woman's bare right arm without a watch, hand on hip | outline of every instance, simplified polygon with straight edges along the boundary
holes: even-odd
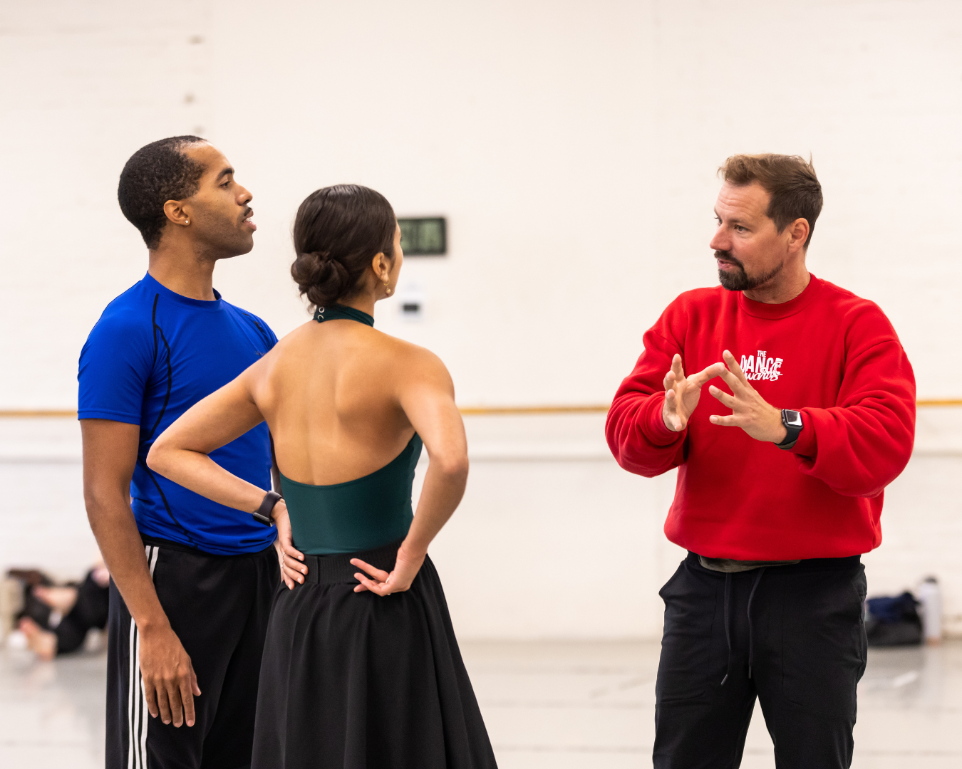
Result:
[[[351,563],[374,579],[358,573],[357,592],[370,590],[381,596],[407,590],[418,575],[431,540],[442,530],[461,503],[468,484],[468,439],[461,412],[454,402],[454,385],[441,360],[418,351],[405,366],[399,401],[424,441],[429,464],[418,501],[418,512],[397,551],[393,571],[376,569],[360,558]]]

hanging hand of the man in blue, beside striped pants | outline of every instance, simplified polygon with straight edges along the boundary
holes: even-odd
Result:
[[[200,696],[200,687],[190,657],[169,625],[140,631],[140,675],[154,718],[160,714],[165,724],[193,726],[193,698]]]

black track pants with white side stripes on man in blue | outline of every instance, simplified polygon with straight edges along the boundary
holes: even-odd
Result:
[[[280,582],[275,551],[213,556],[154,539],[145,547],[157,596],[190,655],[201,695],[193,700],[192,727],[150,716],[138,629],[112,580],[107,769],[248,767],[267,617]]]

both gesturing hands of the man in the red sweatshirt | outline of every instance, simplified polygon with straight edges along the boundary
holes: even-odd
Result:
[[[708,418],[709,421],[721,427],[740,427],[755,440],[780,443],[787,434],[781,421],[781,410],[766,403],[758,390],[748,382],[742,367],[728,350],[722,353],[722,360],[724,362],[712,363],[686,378],[681,356],[674,356],[671,371],[665,375],[665,406],[662,409],[665,425],[676,433],[684,430],[698,405],[701,387],[710,379],[722,377],[725,385],[731,387],[731,394],[715,385],[710,385],[708,391],[723,406],[731,409],[731,414],[713,414]]]

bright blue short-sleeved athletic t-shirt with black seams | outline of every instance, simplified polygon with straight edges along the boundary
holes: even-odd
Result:
[[[80,354],[80,419],[140,426],[137,467],[130,484],[140,533],[216,555],[254,553],[276,531],[241,510],[195,494],[147,467],[158,435],[201,398],[237,377],[274,346],[260,318],[216,299],[174,293],[144,276],[111,302]],[[266,423],[211,453],[224,469],[270,488]]]

